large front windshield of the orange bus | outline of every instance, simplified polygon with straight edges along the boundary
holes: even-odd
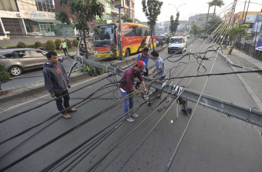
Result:
[[[101,32],[95,32],[94,47],[109,47],[112,43],[116,43],[115,25],[96,26],[96,28],[101,29]]]

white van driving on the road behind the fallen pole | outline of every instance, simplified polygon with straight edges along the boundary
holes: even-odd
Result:
[[[180,53],[182,54],[183,51],[186,51],[187,45],[187,38],[186,36],[173,36],[170,39],[169,46],[167,47],[167,52],[175,52],[181,49]]]

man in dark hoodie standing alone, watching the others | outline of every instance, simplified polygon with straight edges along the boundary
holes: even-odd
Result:
[[[77,111],[77,109],[67,109],[70,107],[70,96],[68,94],[67,87],[70,88],[71,85],[69,83],[66,70],[64,66],[60,62],[58,62],[56,52],[49,51],[47,53],[47,58],[49,62],[44,64],[43,69],[45,86],[51,97],[55,98],[57,109],[62,113],[62,116],[66,119],[70,119],[71,116],[67,112],[74,112]],[[62,96],[64,97],[64,106]]]

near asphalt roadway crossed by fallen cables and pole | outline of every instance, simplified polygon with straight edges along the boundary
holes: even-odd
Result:
[[[192,39],[189,39],[189,41],[192,41]],[[192,52],[200,43],[201,42],[197,41],[192,45],[192,47],[190,45],[187,48],[187,52]],[[207,47],[208,45],[204,45],[203,49],[199,48],[197,49],[197,52],[204,52]],[[169,55],[170,54],[167,54],[167,52],[164,51],[160,54],[160,57],[165,59]],[[174,56],[175,57],[170,60],[177,60],[180,58],[178,57],[180,54],[176,54]],[[210,57],[215,57],[215,54],[212,53]],[[190,60],[192,60],[192,62],[196,62],[196,59],[192,56],[190,57]],[[210,72],[214,60],[214,58],[211,58],[210,61],[206,61],[204,64],[207,69],[206,73]],[[164,62],[166,70],[171,69],[178,64],[171,63],[166,60]],[[185,62],[188,62],[188,59]],[[152,64],[153,61],[149,61],[149,65]],[[188,63],[188,65],[183,64],[181,68],[177,68],[177,72],[173,75],[173,77],[195,74],[197,67],[197,63]],[[174,69],[172,71],[174,71]],[[204,70],[201,70],[200,72],[203,73]],[[212,73],[222,72],[232,72],[232,70],[222,59],[216,59]],[[95,80],[91,79],[90,81],[74,85],[69,92],[79,89],[91,82],[95,82],[99,78],[103,78],[105,76],[106,74],[96,78]],[[169,75],[167,75],[167,77],[169,77]],[[194,78],[189,84],[188,89],[201,92],[206,79],[207,77]],[[176,79],[173,84],[182,86],[186,84],[187,80],[187,78]],[[109,81],[104,79],[94,85],[77,91],[76,93],[70,94],[70,104],[73,105],[81,101],[82,99],[76,98],[86,97],[108,83]],[[103,99],[92,100],[88,103],[81,104],[81,106],[77,106],[78,111],[70,113],[72,115],[70,120],[60,118],[61,116],[58,115],[50,121],[32,129],[16,139],[0,145],[0,156],[2,156],[17,144],[32,136],[35,132],[44,128],[29,141],[23,143],[4,158],[1,158],[0,167],[4,167],[16,159],[28,154],[51,139],[58,137],[60,134],[64,133],[73,126],[79,125],[84,120],[98,113],[100,110],[115,103],[118,99],[114,98],[114,96],[117,97],[120,95],[117,95],[116,93],[107,93],[108,91],[109,90],[107,89],[96,94],[96,96],[101,95]],[[246,107],[256,107],[254,101],[251,99],[250,95],[246,92],[246,89],[235,75],[210,77],[204,94],[210,94]],[[162,98],[164,98],[165,95],[166,94],[163,94]],[[51,97],[49,95],[44,95],[43,97],[39,97],[33,101],[25,102],[18,107],[1,112],[0,120],[17,114],[18,112],[31,109],[46,102],[47,100],[51,100]],[[152,107],[145,106],[139,109],[136,112],[139,117],[134,118],[134,122],[130,123],[125,121],[90,154],[87,155],[88,152],[85,152],[80,157],[85,155],[86,157],[84,157],[71,172],[87,171],[98,159],[106,154],[107,151],[113,148],[119,140],[121,140],[143,119],[145,119],[152,109],[156,108],[160,101],[160,99],[157,99],[154,101]],[[142,102],[143,100],[141,97],[135,98],[134,107]],[[167,104],[168,103],[165,103],[164,105]],[[194,108],[196,104],[188,102],[188,106]],[[168,161],[172,156],[177,143],[180,140],[181,134],[189,120],[189,116],[183,114],[180,109],[181,108],[179,107],[178,119],[176,119],[176,106],[167,112],[160,123],[153,129],[152,133],[129,159],[127,164],[123,167],[122,172],[164,172],[166,165],[168,164]],[[154,112],[142,125],[134,130],[134,132],[127,137],[127,139],[120,143],[107,157],[105,157],[95,172],[116,172],[141,143],[141,141],[143,141],[147,133],[164,114],[164,111],[165,108],[163,107],[162,111],[157,110]],[[31,126],[46,120],[57,112],[55,103],[51,102],[48,105],[34,109],[1,123],[0,141],[4,141],[5,139],[8,139]],[[63,156],[65,153],[72,150],[74,147],[87,140],[107,125],[115,122],[122,116],[123,103],[101,114],[87,124],[80,126],[66,136],[60,138],[58,141],[51,143],[38,152],[35,152],[33,155],[6,170],[6,172],[39,172],[54,160]],[[173,120],[173,123],[171,123],[171,120]],[[54,123],[51,124],[52,122]],[[111,128],[112,127],[113,126],[111,126]],[[109,129],[106,131],[108,130]],[[218,113],[212,109],[198,106],[195,116],[193,117],[188,131],[181,142],[181,146],[175,156],[169,172],[261,172],[262,138],[260,134],[261,131],[259,131],[259,129],[254,125],[246,124],[246,122],[242,122],[235,118],[229,118],[226,114]],[[87,144],[84,146],[87,146]],[[84,148],[81,153],[87,148]],[[77,154],[77,156],[78,155],[80,154]],[[73,156],[73,158],[70,158],[53,172],[61,171],[77,156]],[[76,164],[79,159],[73,162],[72,165]],[[72,167],[72,165],[69,167]],[[66,171],[68,169],[69,168],[66,168]]]

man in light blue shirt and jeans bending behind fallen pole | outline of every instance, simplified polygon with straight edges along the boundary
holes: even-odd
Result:
[[[159,57],[159,54],[157,51],[152,51],[151,55],[153,59],[156,62],[156,68],[154,69],[153,73],[157,72],[153,75],[153,78],[158,78],[159,80],[163,80],[165,78],[165,71],[164,71],[164,61]],[[158,90],[155,90],[155,93],[157,93]],[[161,98],[161,94],[159,94],[156,98]]]

